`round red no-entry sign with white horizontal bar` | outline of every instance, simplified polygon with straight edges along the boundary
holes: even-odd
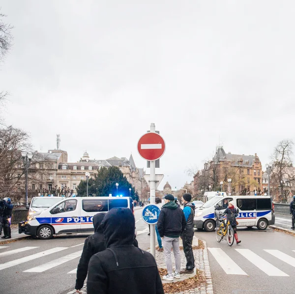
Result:
[[[140,156],[148,161],[159,159],[165,152],[165,141],[157,133],[143,135],[137,144]]]

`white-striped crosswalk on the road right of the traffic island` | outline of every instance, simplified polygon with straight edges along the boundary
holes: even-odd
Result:
[[[231,248],[234,250],[234,248]],[[208,248],[211,255],[214,257],[216,262],[221,266],[221,268],[224,270],[226,274],[229,275],[251,275],[253,274],[253,270],[249,271],[248,273],[244,271],[239,265],[237,265],[236,261],[243,265],[245,261],[250,262],[251,265],[253,265],[253,268],[258,268],[259,270],[263,271],[266,275],[271,277],[290,277],[293,276],[294,269],[291,269],[291,271],[288,273],[284,272],[282,269],[278,268],[275,265],[272,265],[269,261],[267,261],[264,257],[260,256],[259,254],[253,252],[250,249],[235,249],[235,252],[238,253],[238,255],[234,254],[235,252],[230,253],[228,255],[225,253],[221,248]],[[292,250],[295,252],[295,250]],[[263,252],[266,252],[269,254],[270,259],[273,260],[271,257],[275,257],[277,260],[280,260],[281,262],[291,265],[292,267],[295,267],[295,257],[293,252],[290,252],[291,255],[288,255],[280,250],[276,249],[263,249],[261,254],[263,255]],[[236,258],[236,261],[234,261],[234,257]],[[282,264],[283,265],[283,264]],[[284,266],[286,268],[286,266]],[[285,270],[285,269],[284,269]],[[285,270],[286,271],[286,270]]]

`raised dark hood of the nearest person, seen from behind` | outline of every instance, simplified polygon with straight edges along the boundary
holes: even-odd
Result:
[[[129,208],[112,208],[104,217],[101,227],[106,247],[132,245],[135,234],[135,218]]]

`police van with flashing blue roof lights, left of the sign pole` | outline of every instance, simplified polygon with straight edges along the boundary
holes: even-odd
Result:
[[[130,197],[75,197],[65,198],[43,211],[28,216],[19,223],[19,234],[50,239],[57,234],[93,232],[93,216],[112,208],[128,207],[133,212]]]

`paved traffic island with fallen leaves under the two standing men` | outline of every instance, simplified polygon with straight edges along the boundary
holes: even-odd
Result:
[[[173,284],[177,285],[177,282],[182,282],[184,280],[187,280],[189,278],[192,278],[196,275],[196,269],[202,271],[201,274],[204,274],[204,282],[198,286],[198,287],[192,287],[191,289],[187,290],[182,290],[180,292],[165,292],[166,294],[213,294],[213,286],[212,286],[212,280],[211,280],[211,272],[210,272],[210,266],[209,266],[209,261],[208,261],[208,253],[207,253],[207,244],[205,241],[203,241],[204,244],[204,249],[197,249],[193,250],[194,251],[194,257],[195,257],[195,271],[193,274],[182,274],[180,275],[180,279],[174,279],[173,282],[170,281],[163,281],[163,285],[170,284],[172,287],[174,286]],[[193,246],[198,245],[198,238],[194,238],[193,240]],[[182,246],[182,243],[180,244]],[[149,251],[149,250],[148,250]],[[183,250],[180,250],[181,254],[181,267],[185,267],[186,264],[186,259]],[[173,257],[173,254],[172,254]],[[156,262],[159,268],[159,271],[162,272],[163,269],[166,268],[165,265],[165,257],[164,257],[164,252],[159,252],[156,250]],[[173,266],[175,268],[175,261],[174,257],[172,258]],[[161,273],[160,273],[161,274]],[[162,276],[161,276],[162,278]],[[70,292],[66,292],[66,294],[74,294],[76,293],[76,290],[72,290]],[[87,286],[86,282],[84,287],[81,289],[81,294],[87,294]]]

